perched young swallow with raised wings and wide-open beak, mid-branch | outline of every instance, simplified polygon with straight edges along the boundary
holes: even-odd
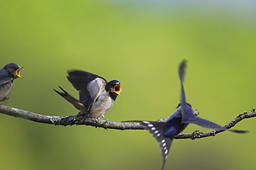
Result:
[[[84,71],[68,72],[68,81],[79,92],[79,100],[68,94],[62,87],[63,92],[57,92],[63,98],[68,100],[80,112],[81,116],[91,118],[107,118],[104,114],[113,106],[117,96],[122,91],[119,81],[107,82],[101,76]]]

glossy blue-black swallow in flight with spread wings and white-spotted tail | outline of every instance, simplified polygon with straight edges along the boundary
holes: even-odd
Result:
[[[125,121],[125,122],[138,122],[140,125],[143,125],[145,129],[149,130],[149,133],[156,138],[157,142],[159,142],[159,147],[161,147],[162,157],[163,157],[163,166],[162,170],[165,166],[165,161],[167,160],[168,153],[170,151],[170,147],[172,145],[172,140],[175,136],[180,134],[190,123],[194,123],[201,127],[206,127],[209,129],[217,129],[221,131],[226,131],[225,127],[221,127],[216,123],[212,123],[209,120],[205,120],[203,118],[199,118],[195,116],[193,113],[193,109],[189,103],[186,103],[185,100],[185,92],[183,88],[183,78],[185,74],[186,61],[183,61],[179,67],[179,78],[181,81],[181,103],[179,103],[178,107],[171,114],[165,123],[163,122],[154,122],[154,121]],[[234,132],[243,133],[246,131],[237,131],[230,130]]]

